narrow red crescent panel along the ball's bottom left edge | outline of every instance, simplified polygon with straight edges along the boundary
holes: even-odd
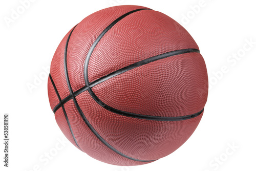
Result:
[[[88,94],[88,92],[83,92],[83,94]],[[90,97],[91,98],[91,97]],[[88,99],[87,99],[88,100]],[[83,99],[84,101],[84,99]],[[138,162],[131,159],[122,157],[112,151],[109,147],[104,145],[89,129],[89,127],[84,123],[80,114],[76,110],[73,100],[68,101],[64,104],[66,112],[69,114],[69,121],[71,123],[73,133],[79,144],[79,147],[83,152],[86,152],[89,156],[115,165],[140,165],[150,162]],[[83,111],[86,115],[86,111]],[[92,113],[90,113],[91,115]],[[88,116],[88,115],[86,115]]]

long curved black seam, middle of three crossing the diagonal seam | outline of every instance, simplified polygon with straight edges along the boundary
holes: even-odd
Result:
[[[74,27],[75,29],[75,27]],[[73,30],[74,30],[73,29]],[[84,116],[76,98],[75,98],[75,95],[74,95],[74,92],[71,88],[71,84],[70,84],[70,80],[69,80],[69,75],[68,75],[68,68],[67,68],[67,51],[68,51],[68,44],[69,44],[69,39],[70,39],[70,36],[73,32],[73,30],[71,31],[68,39],[67,39],[67,42],[66,42],[66,47],[65,47],[65,53],[64,53],[64,68],[65,68],[65,76],[66,76],[66,80],[67,80],[67,84],[68,84],[68,88],[69,88],[69,91],[70,91],[70,95],[72,96],[72,99],[74,101],[74,104],[76,106],[76,109],[77,111],[79,112],[80,116],[82,117],[83,121],[87,124],[87,126],[89,127],[89,129],[94,133],[94,135],[103,143],[105,144],[106,146],[108,146],[110,149],[112,149],[112,151],[114,151],[115,153],[119,154],[120,156],[123,156],[127,159],[131,159],[131,160],[134,160],[134,161],[140,161],[140,162],[150,162],[150,161],[155,161],[155,160],[139,160],[139,159],[135,159],[135,158],[132,158],[132,157],[129,157],[129,156],[126,156],[125,154],[119,152],[116,148],[114,148],[113,146],[111,146],[108,142],[106,142],[97,132],[96,130],[94,129],[94,127],[90,124],[90,122],[87,120],[86,116]]]

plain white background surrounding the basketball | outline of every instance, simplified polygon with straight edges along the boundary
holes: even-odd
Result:
[[[203,2],[35,0],[8,24],[22,4],[1,1],[0,170],[255,170],[256,4]],[[146,165],[115,166],[80,152],[63,136],[48,101],[44,68],[60,40],[84,17],[113,5],[141,5],[177,20],[196,40],[208,70],[208,101],[197,130],[176,152]],[[4,113],[10,115],[9,168],[3,166]]]

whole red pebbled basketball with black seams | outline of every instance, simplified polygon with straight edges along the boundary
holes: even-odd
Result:
[[[189,33],[141,6],[95,12],[72,28],[51,63],[55,119],[82,152],[140,165],[173,153],[195,131],[208,94]]]

